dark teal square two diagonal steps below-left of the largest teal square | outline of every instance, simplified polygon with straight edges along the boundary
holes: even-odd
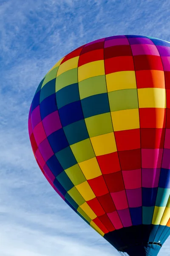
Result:
[[[76,158],[74,157],[70,147],[64,148],[57,152],[56,157],[64,170],[77,164]]]

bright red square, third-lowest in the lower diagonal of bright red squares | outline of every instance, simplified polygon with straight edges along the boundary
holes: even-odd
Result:
[[[88,184],[91,186],[91,189],[96,196],[101,196],[108,193],[108,188],[102,175],[88,180]]]

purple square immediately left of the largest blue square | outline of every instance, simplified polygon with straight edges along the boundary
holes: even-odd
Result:
[[[45,118],[42,120],[42,123],[47,137],[54,131],[62,128],[58,111],[54,111],[48,116],[45,116]]]

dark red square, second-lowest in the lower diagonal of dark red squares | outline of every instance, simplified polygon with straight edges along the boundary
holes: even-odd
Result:
[[[114,212],[116,210],[110,193],[99,196],[97,199],[106,213]]]

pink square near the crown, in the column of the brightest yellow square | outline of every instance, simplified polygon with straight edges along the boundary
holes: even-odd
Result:
[[[156,55],[159,56],[158,49],[152,44],[132,44],[133,55]]]

